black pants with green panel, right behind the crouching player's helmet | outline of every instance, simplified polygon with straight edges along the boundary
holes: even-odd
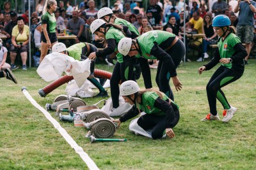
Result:
[[[113,108],[118,108],[119,106],[119,82],[134,80],[133,68],[136,64],[136,59],[134,57],[125,56],[124,62],[116,62],[113,69],[112,76],[110,78],[110,90],[111,98],[113,102]]]

